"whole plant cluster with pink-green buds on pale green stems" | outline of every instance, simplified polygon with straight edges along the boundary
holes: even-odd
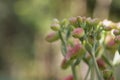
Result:
[[[53,32],[46,36],[46,40],[60,40],[61,68],[71,67],[72,70],[72,75],[64,80],[79,80],[76,66],[81,60],[88,66],[84,80],[115,80],[115,62],[118,65],[120,61],[113,60],[120,59],[113,58],[120,53],[120,23],[77,16],[62,21],[54,19],[51,29]]]

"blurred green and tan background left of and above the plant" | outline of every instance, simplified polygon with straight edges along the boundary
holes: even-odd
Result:
[[[0,80],[61,80],[71,74],[60,68],[59,42],[44,39],[54,18],[72,16],[119,22],[120,0],[0,0]]]

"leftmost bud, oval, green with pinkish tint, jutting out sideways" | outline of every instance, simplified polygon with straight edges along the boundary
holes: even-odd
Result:
[[[54,42],[54,41],[57,41],[58,39],[59,39],[59,35],[58,35],[58,33],[56,33],[56,32],[51,32],[50,34],[48,34],[47,36],[46,36],[46,41],[48,41],[48,42]]]

